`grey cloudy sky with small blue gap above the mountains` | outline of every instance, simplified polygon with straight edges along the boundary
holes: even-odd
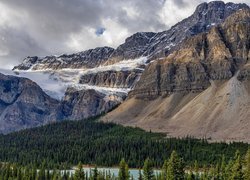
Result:
[[[166,30],[209,1],[0,0],[0,68],[26,56],[117,47],[135,32]]]

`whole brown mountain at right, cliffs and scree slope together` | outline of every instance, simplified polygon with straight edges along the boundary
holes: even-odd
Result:
[[[186,39],[146,67],[129,98],[103,118],[170,136],[250,142],[250,10]]]

